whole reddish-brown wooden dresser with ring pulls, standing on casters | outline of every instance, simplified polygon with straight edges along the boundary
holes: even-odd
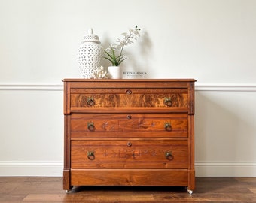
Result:
[[[63,189],[184,186],[192,193],[195,81],[63,80]]]

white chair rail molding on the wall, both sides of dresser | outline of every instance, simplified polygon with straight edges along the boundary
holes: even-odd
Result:
[[[63,91],[63,84],[50,83],[0,83],[1,90],[22,90],[22,91]],[[256,84],[196,84],[196,91],[215,91],[215,92],[256,92]]]

